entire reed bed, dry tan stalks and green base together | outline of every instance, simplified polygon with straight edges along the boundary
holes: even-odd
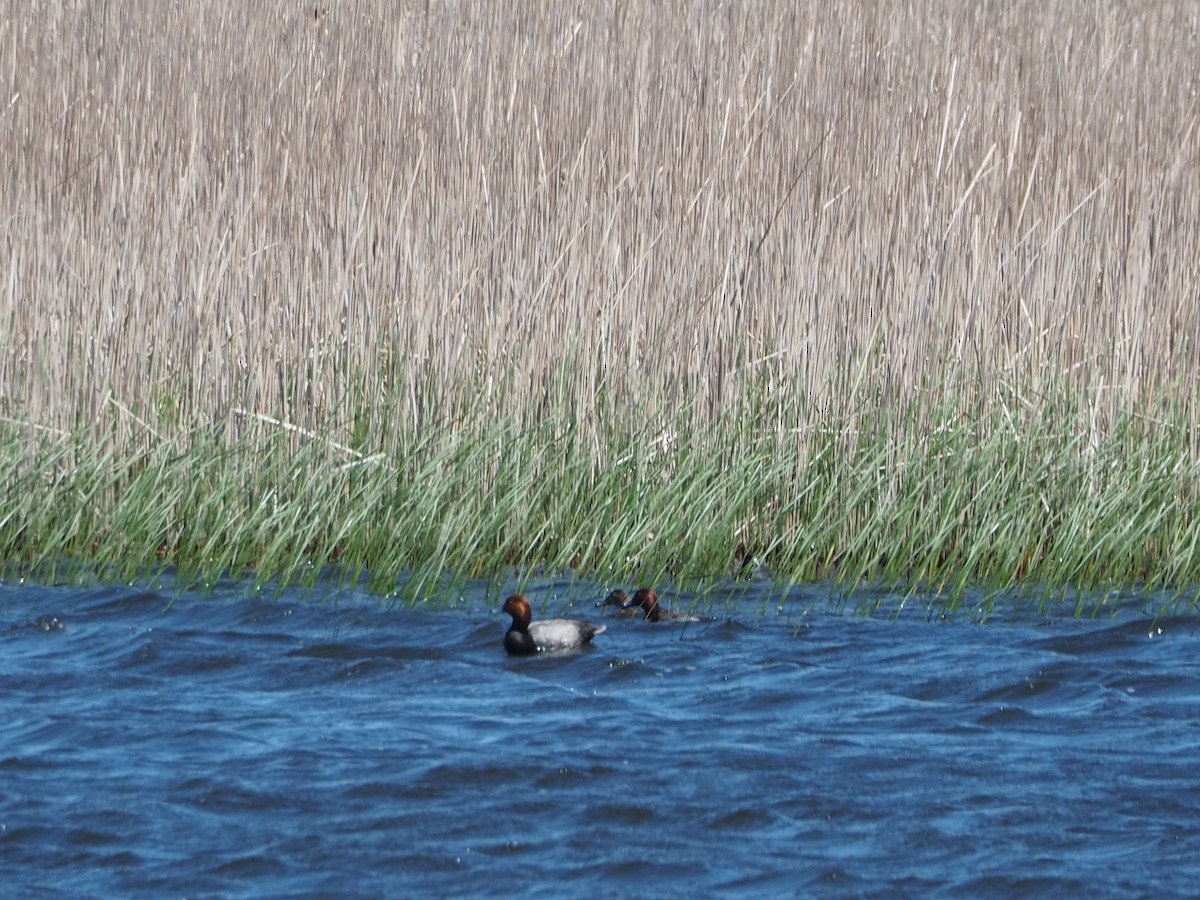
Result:
[[[810,6],[8,4],[0,558],[1192,590],[1200,7]]]

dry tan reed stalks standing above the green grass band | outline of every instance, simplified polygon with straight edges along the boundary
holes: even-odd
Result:
[[[1067,385],[1098,428],[1172,391],[1195,422],[1195,19],[18,0],[0,415],[702,427],[766,385],[816,425]]]

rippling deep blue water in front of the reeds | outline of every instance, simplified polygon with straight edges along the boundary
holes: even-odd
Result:
[[[530,592],[587,618],[605,593]],[[414,610],[0,583],[0,883],[1195,893],[1196,619],[883,620],[817,593],[509,659],[482,593]]]

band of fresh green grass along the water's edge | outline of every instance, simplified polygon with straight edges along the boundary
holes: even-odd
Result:
[[[0,559],[120,580],[169,565],[196,583],[332,566],[409,599],[534,570],[688,589],[886,584],[948,612],[1022,584],[1046,601],[1055,588],[1200,596],[1200,480],[1178,410],[1096,437],[1067,396],[946,406],[924,432],[884,404],[800,439],[803,412],[758,400],[707,432],[611,422],[604,464],[569,408],[532,430],[468,413],[402,455],[263,419],[232,444],[212,427],[137,455],[65,439],[30,451],[6,424]]]

